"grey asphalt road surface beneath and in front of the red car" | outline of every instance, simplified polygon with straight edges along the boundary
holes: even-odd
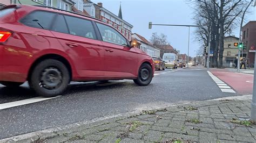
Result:
[[[146,87],[132,80],[72,83],[63,96],[0,109],[0,139],[119,113],[236,95],[222,92],[205,69],[156,71]],[[27,84],[17,89],[0,86],[0,107],[33,97]]]

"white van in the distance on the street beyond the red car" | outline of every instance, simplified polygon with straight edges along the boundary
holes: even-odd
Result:
[[[178,56],[173,53],[164,53],[163,61],[165,63],[165,68],[177,68]]]

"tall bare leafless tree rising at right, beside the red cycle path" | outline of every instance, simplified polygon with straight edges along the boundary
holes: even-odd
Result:
[[[212,66],[219,68],[223,66],[224,37],[226,33],[237,27],[244,2],[245,0],[195,1],[197,15],[194,21],[197,25],[205,25],[211,33],[211,51],[214,51]],[[200,29],[195,34],[199,40],[206,37]]]

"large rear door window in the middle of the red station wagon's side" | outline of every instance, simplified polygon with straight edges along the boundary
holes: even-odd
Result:
[[[68,24],[70,34],[85,38],[97,39],[95,30],[90,20],[71,16],[65,16],[65,19],[66,23]]]

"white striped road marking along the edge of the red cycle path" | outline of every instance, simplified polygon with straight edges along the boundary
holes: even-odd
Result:
[[[227,84],[221,81],[218,77],[214,76],[210,71],[207,71],[207,73],[210,75],[212,80],[218,85],[222,92],[235,93],[235,91],[231,89],[231,87],[229,87]]]

